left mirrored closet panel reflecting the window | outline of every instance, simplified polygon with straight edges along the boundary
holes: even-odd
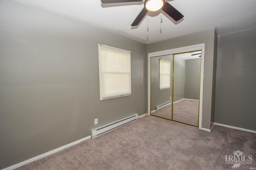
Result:
[[[151,115],[171,119],[172,55],[151,57]]]

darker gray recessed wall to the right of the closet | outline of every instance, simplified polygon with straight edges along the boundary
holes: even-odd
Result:
[[[220,35],[215,122],[256,131],[256,29]]]

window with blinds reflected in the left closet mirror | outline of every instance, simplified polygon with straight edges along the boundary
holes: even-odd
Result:
[[[159,90],[171,88],[171,61],[159,59]]]

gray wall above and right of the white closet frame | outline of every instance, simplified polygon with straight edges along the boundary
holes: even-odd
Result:
[[[210,129],[212,115],[214,115],[212,100],[215,101],[215,96],[212,94],[212,90],[215,88],[214,52],[216,50],[215,42],[217,39],[215,33],[214,29],[209,29],[147,45],[147,53],[152,53],[205,43],[202,127],[206,129]]]

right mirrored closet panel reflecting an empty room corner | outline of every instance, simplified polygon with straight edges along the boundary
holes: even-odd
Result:
[[[201,51],[174,55],[173,120],[198,126]]]

